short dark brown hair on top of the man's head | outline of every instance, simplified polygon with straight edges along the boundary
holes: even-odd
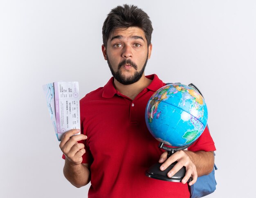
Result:
[[[102,27],[103,44],[107,46],[110,34],[116,28],[139,27],[141,28],[147,40],[147,44],[151,43],[151,35],[153,32],[152,23],[147,13],[137,6],[124,4],[117,6],[108,14]]]

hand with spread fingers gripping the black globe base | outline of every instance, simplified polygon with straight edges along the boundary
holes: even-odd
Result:
[[[167,158],[167,154],[167,151],[164,152],[159,159],[159,163],[163,163],[160,167],[160,170],[165,170],[173,162],[177,161],[177,164],[175,164],[175,166],[168,172],[167,176],[171,178],[184,166],[186,167],[186,174],[182,179],[182,183],[185,184],[192,175],[193,180],[189,182],[189,185],[193,185],[198,178],[198,174],[195,164],[191,161],[191,158],[186,154],[186,152],[183,150],[176,151],[169,158]]]

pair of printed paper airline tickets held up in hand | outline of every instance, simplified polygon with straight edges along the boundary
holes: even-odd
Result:
[[[43,85],[47,107],[58,141],[63,133],[80,129],[78,82],[54,82]]]

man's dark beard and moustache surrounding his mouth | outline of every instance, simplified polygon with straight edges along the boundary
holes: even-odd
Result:
[[[142,69],[141,69],[140,71],[137,71],[137,69],[138,69],[137,65],[136,65],[134,62],[132,62],[130,59],[125,59],[125,60],[123,60],[121,63],[119,63],[117,72],[115,72],[115,71],[113,70],[113,68],[112,68],[112,66],[111,66],[111,64],[110,64],[110,62],[109,62],[109,60],[108,60],[108,55],[107,55],[107,62],[108,62],[108,66],[109,66],[109,68],[110,68],[110,71],[111,71],[113,77],[114,77],[119,83],[121,83],[121,84],[123,84],[123,85],[130,85],[130,84],[133,84],[133,83],[137,82],[137,81],[142,77],[142,75],[143,75],[143,73],[144,73],[144,70],[145,70],[145,68],[146,68],[146,64],[147,64],[147,62],[148,62],[148,55],[147,55],[146,61],[145,61],[145,63],[144,63],[144,66],[142,67]],[[124,77],[124,76],[121,74],[120,68],[121,68],[122,66],[124,66],[125,64],[130,64],[133,68],[135,68],[136,72],[135,72],[135,74],[134,74],[133,76]]]

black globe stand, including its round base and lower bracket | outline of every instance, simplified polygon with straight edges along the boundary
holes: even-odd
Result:
[[[167,147],[164,145],[164,143],[160,143],[158,145],[159,148],[162,148],[168,152],[167,158],[170,157],[173,153],[175,153],[178,150],[184,150],[190,145],[192,145],[194,142],[190,143],[189,145],[185,145],[182,147]],[[185,176],[186,168],[182,167],[177,173],[175,173],[171,178],[167,176],[168,172],[175,166],[177,162],[172,163],[170,166],[168,166],[164,171],[160,170],[160,166],[162,163],[155,163],[152,165],[147,171],[146,176],[158,180],[164,180],[164,181],[171,181],[171,182],[181,182],[182,178]],[[188,182],[192,181],[192,177],[189,178]]]

